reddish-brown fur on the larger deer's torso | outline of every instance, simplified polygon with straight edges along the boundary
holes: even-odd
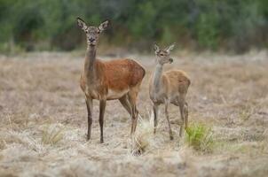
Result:
[[[97,75],[100,82],[96,90],[94,90],[99,94],[98,96],[91,95],[93,99],[99,99],[102,95],[107,95],[109,89],[118,92],[124,89],[134,89],[140,85],[146,74],[145,69],[141,65],[128,58],[106,62],[97,59],[95,61],[95,67],[97,68]],[[86,77],[84,73],[82,73],[80,86],[83,92],[85,92]],[[113,99],[118,98],[110,99],[107,97],[107,100]]]

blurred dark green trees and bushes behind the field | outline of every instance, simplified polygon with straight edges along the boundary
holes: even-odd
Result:
[[[0,0],[0,50],[79,49],[85,39],[76,17],[94,26],[109,19],[101,44],[129,49],[268,47],[267,0]]]

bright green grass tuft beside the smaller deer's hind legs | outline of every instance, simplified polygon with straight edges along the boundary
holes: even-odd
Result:
[[[185,141],[194,150],[209,152],[213,148],[213,132],[203,124],[193,124],[186,129]]]

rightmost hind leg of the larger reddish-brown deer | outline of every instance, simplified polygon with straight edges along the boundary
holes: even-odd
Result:
[[[132,119],[130,134],[132,135],[136,130],[138,120],[138,111],[136,107],[137,92],[130,91],[128,95],[129,95],[129,102],[131,107],[131,119]]]

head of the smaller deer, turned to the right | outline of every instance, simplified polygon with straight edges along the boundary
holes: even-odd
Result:
[[[164,50],[161,50],[156,44],[154,44],[154,52],[156,55],[156,61],[160,65],[171,64],[173,62],[173,58],[170,58],[170,50],[173,50],[175,43],[171,44]]]

